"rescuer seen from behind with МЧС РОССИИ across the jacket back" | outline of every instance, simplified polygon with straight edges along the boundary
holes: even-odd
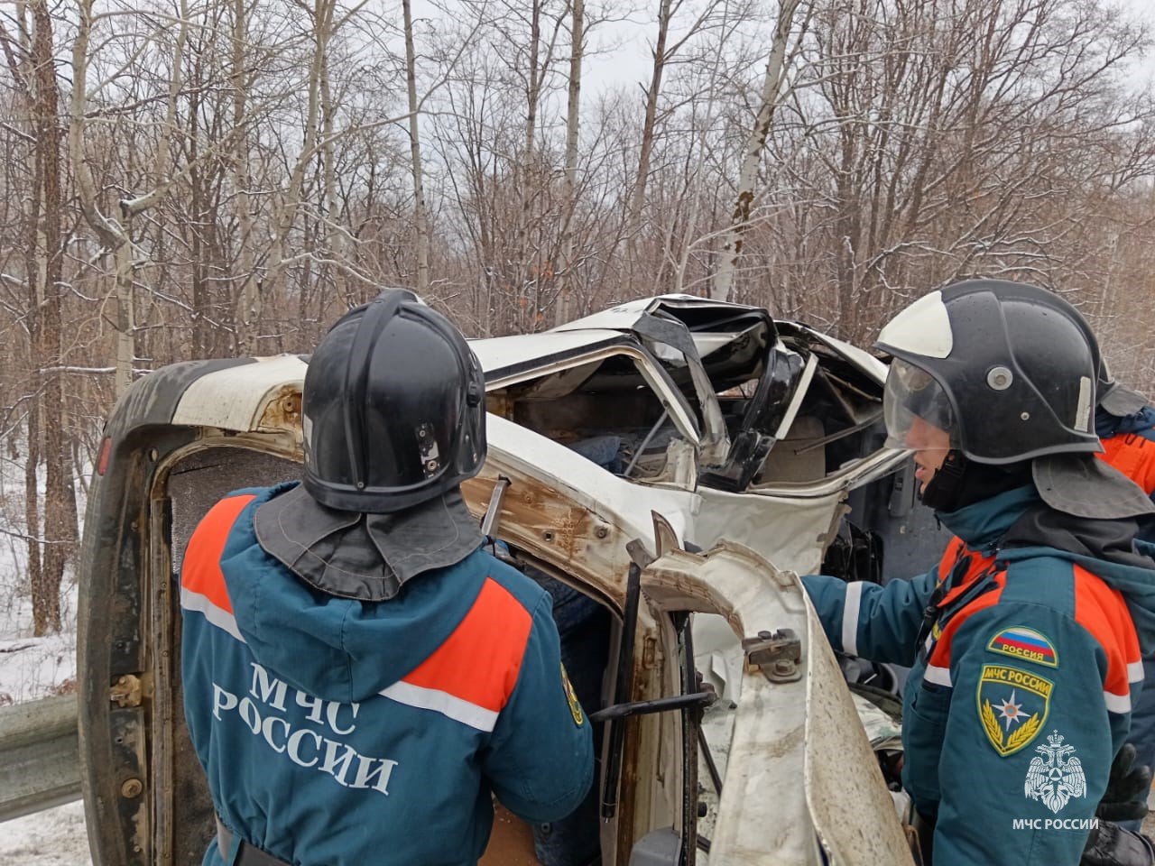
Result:
[[[217,809],[204,866],[469,866],[491,794],[560,819],[590,723],[550,597],[480,550],[479,366],[402,290],[305,376],[304,483],[238,491],[180,574],[185,716]]]

